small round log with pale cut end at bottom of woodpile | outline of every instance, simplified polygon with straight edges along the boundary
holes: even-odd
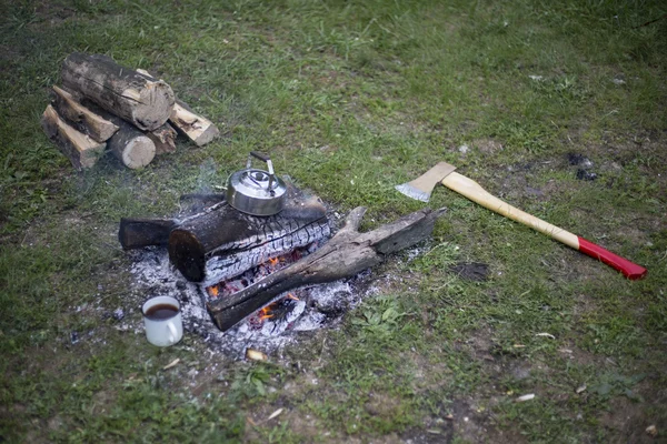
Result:
[[[128,168],[148,165],[156,157],[153,141],[131,124],[118,123],[120,129],[109,139],[109,150]]]

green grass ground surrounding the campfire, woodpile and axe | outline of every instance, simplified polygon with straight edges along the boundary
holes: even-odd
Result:
[[[663,433],[667,20],[643,24],[666,12],[613,0],[1,1],[0,440]],[[72,171],[39,118],[73,51],[159,74],[223,137],[180,142],[142,171],[110,157]],[[429,205],[448,211],[424,253],[389,259],[374,273],[380,294],[272,364],[207,357],[196,337],[156,351],[115,330],[99,310],[138,316],[119,219],[173,214],[249,150],[339,213],[367,205],[365,228],[421,208],[394,185],[445,160],[649,274],[626,281],[438,188]],[[577,180],[569,153],[598,179]],[[488,264],[488,280],[460,279],[458,262]],[[161,370],[175,357],[197,362],[195,386],[187,369]],[[536,398],[514,402],[526,393]]]

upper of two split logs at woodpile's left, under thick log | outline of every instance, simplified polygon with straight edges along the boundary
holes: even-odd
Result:
[[[51,97],[53,108],[56,108],[58,114],[91,139],[98,142],[106,142],[118,131],[118,127],[113,122],[103,119],[101,115],[83,107],[69,92],[53,87],[53,94]]]

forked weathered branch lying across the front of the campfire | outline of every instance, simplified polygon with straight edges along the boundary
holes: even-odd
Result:
[[[385,255],[425,240],[444,211],[420,210],[377,230],[359,233],[366,209],[357,208],[348,215],[345,226],[319,250],[230,296],[208,302],[208,311],[220,330],[229,330],[281,293],[354,276],[380,263]]]

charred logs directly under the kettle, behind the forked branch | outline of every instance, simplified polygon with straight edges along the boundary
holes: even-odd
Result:
[[[118,238],[126,250],[167,245],[181,274],[203,285],[330,235],[321,201],[291,184],[283,210],[268,218],[239,212],[223,194],[186,194],[181,203],[190,212],[180,219],[121,219]]]

